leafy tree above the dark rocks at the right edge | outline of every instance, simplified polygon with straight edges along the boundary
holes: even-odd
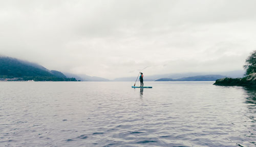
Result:
[[[246,69],[246,75],[250,75],[256,72],[256,50],[251,53],[251,55],[246,59],[246,65],[244,65],[244,69]]]

